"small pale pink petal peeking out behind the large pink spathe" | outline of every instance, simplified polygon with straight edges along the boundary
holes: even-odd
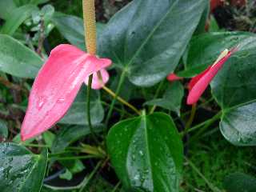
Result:
[[[106,82],[109,81],[110,75],[107,72],[107,70],[102,69],[100,70],[102,74],[102,82],[98,79],[97,72],[94,72],[93,81],[91,83],[91,88],[94,90],[102,89],[102,86],[106,84]],[[89,76],[86,77],[85,83],[88,85]]]

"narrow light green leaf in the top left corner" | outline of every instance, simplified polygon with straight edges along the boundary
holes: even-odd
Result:
[[[1,34],[13,35],[22,22],[30,18],[32,11],[38,10],[37,6],[26,5],[18,7],[10,12],[6,18],[6,23],[2,26]]]

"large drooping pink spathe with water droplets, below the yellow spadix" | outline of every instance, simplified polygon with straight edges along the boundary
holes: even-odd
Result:
[[[110,59],[86,54],[75,46],[55,47],[30,92],[22,122],[22,141],[50,129],[66,114],[86,78],[110,65]]]

